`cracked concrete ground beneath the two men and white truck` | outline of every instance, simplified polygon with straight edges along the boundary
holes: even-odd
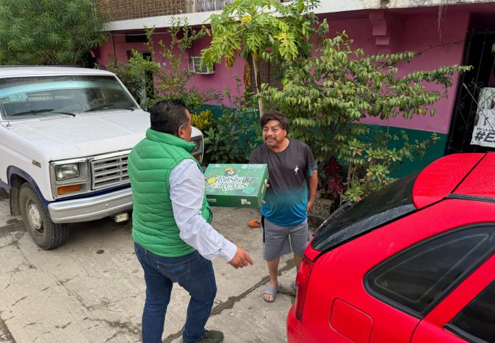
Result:
[[[261,300],[267,283],[261,228],[252,209],[213,209],[213,226],[246,248],[254,260],[236,270],[214,261],[217,298],[207,329],[221,329],[225,342],[285,342],[285,317],[294,303],[294,263],[281,260],[283,284],[274,303]],[[69,241],[45,251],[10,216],[0,193],[0,343],[140,342],[144,304],[142,268],[135,258],[131,224],[111,219],[70,226]],[[164,342],[180,342],[189,296],[174,286]]]

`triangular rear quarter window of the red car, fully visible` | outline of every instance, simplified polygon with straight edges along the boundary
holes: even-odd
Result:
[[[495,249],[495,226],[458,228],[421,241],[373,268],[368,292],[406,313],[424,316]]]

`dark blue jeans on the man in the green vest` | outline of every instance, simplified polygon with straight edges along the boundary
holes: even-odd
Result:
[[[182,338],[184,342],[202,340],[204,327],[217,295],[211,261],[197,251],[181,257],[161,257],[138,244],[134,244],[134,250],[146,281],[146,301],[142,316],[143,342],[162,342],[166,309],[175,282],[184,287],[191,297]]]

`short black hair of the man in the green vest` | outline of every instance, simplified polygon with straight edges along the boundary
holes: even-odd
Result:
[[[177,136],[177,130],[189,123],[186,110],[186,103],[181,99],[157,102],[150,110],[151,130]]]

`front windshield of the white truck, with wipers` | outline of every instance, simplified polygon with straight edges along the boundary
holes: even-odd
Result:
[[[78,115],[134,109],[135,102],[111,75],[26,76],[0,79],[3,119]]]

